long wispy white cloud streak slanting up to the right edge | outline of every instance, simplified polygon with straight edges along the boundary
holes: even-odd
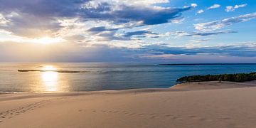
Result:
[[[197,24],[194,24],[194,27],[196,30],[199,30],[199,31],[213,31],[213,30],[223,28],[225,26],[231,26],[234,23],[250,21],[254,18],[256,18],[256,13],[245,14],[245,15],[231,17],[231,18],[225,18],[221,21],[210,21],[210,22],[206,22],[206,23],[197,23]]]

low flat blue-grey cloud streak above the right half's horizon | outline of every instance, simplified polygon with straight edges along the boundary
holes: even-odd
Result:
[[[145,46],[143,50],[151,51],[150,55],[228,55],[238,57],[256,57],[256,43],[238,43],[233,46],[213,47],[167,47],[167,46]]]

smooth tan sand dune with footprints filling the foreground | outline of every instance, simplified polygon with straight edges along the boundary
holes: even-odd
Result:
[[[4,94],[0,127],[255,127],[255,82],[243,84],[194,82],[170,89]]]

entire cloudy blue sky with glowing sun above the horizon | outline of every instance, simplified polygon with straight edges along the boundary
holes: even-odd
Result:
[[[0,62],[256,63],[252,0],[0,0]]]

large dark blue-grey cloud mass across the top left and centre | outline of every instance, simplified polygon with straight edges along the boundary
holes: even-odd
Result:
[[[0,16],[1,24],[6,24],[0,28],[11,31],[18,36],[32,38],[35,36],[56,36],[64,27],[61,21],[72,18],[78,18],[83,23],[105,21],[111,23],[112,26],[122,26],[121,28],[157,25],[180,18],[183,11],[190,10],[191,6],[196,6],[193,4],[184,8],[169,8],[153,5],[168,2],[168,0],[0,1],[0,14],[4,16],[16,13],[16,16],[8,18],[8,23],[3,16]]]

